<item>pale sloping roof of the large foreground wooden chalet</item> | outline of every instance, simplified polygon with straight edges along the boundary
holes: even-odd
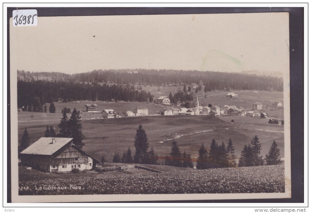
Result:
[[[52,138],[42,137],[22,151],[21,154],[52,155],[58,149],[69,143],[72,138],[54,138],[54,140],[54,143],[52,143]]]

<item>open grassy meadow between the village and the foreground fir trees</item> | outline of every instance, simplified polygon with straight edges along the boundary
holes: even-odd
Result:
[[[231,119],[234,119],[234,124],[230,122]],[[239,127],[243,122],[243,127]],[[57,127],[59,121],[19,122],[19,142],[25,128],[29,133],[30,143],[43,137],[47,124]],[[235,154],[239,156],[243,146],[250,143],[254,135],[258,135],[262,144],[262,155],[268,153],[272,141],[276,140],[281,149],[281,157],[284,157],[284,125],[268,124],[267,119],[246,116],[146,116],[82,120],[85,135],[83,150],[97,159],[105,156],[107,161],[111,161],[116,153],[122,155],[128,147],[134,154],[133,141],[140,124],[146,130],[149,146],[153,146],[160,158],[169,155],[173,138],[181,152],[189,152],[193,159],[196,159],[202,143],[209,147],[211,140],[215,139],[218,144],[227,144],[231,138]]]

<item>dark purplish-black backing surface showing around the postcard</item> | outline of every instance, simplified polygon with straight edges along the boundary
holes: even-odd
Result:
[[[290,139],[291,139],[291,198],[239,199],[239,200],[189,200],[146,202],[218,202],[218,203],[303,203],[304,202],[304,8],[302,7],[29,7],[7,8],[7,91],[10,97],[10,40],[9,18],[16,9],[36,9],[38,17],[51,16],[109,16],[109,15],[159,15],[205,13],[258,13],[289,12],[290,14]],[[11,202],[11,131],[10,99],[7,100],[7,202]],[[5,162],[5,160],[3,161]],[[2,167],[4,168],[4,167]],[[140,201],[136,201],[140,202]],[[144,201],[145,202],[145,201]],[[230,206],[230,205],[229,205]],[[227,206],[227,207],[229,207]],[[250,207],[250,206],[248,206]],[[261,206],[264,207],[264,206]]]

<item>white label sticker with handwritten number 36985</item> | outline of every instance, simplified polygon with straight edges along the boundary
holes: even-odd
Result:
[[[13,10],[13,26],[37,26],[37,10]]]

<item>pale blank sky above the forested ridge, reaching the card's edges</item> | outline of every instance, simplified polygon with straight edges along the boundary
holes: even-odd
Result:
[[[94,37],[95,36],[95,37]],[[38,17],[10,20],[11,71],[289,71],[288,13]]]

